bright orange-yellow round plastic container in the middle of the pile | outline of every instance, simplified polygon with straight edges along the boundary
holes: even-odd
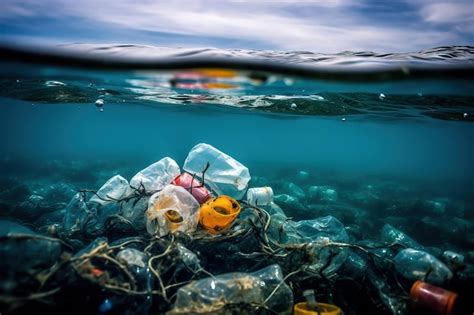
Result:
[[[240,213],[240,204],[229,196],[219,196],[201,206],[199,223],[211,234],[227,229]]]

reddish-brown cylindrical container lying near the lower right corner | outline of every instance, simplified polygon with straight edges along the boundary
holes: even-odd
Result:
[[[439,315],[454,314],[454,305],[458,295],[454,292],[416,281],[410,290],[410,299],[413,306],[430,309]]]

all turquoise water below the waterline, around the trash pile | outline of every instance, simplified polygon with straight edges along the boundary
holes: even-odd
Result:
[[[45,234],[52,223],[62,224],[61,210],[75,191],[97,190],[116,174],[130,179],[166,156],[182,166],[193,146],[208,143],[248,167],[250,187],[271,186],[275,202],[293,220],[332,215],[351,243],[379,241],[388,223],[440,259],[446,250],[462,254],[462,281],[455,277],[457,282],[444,287],[468,295],[473,288],[466,279],[474,266],[472,57],[453,65],[469,65],[459,76],[413,71],[402,80],[388,74],[374,80],[370,73],[388,68],[372,69],[364,62],[386,61],[358,58],[351,59],[350,69],[367,69],[367,80],[353,79],[350,71],[345,76],[343,62],[331,80],[245,68],[203,74],[199,69],[110,71],[4,62],[2,219]],[[397,67],[399,59],[386,63]],[[437,69],[435,60],[426,69]],[[439,68],[449,62],[439,61]],[[69,190],[48,194],[46,188],[55,184]],[[311,186],[330,187],[337,196],[315,197]],[[44,204],[26,207],[32,195],[44,197]],[[53,212],[58,217],[45,216]],[[91,239],[82,241],[85,246]],[[219,269],[219,258],[213,262],[202,256],[215,274],[256,270],[245,263]],[[284,268],[283,273],[290,271]],[[408,281],[400,281],[409,289]],[[361,280],[363,287],[378,292],[375,282]],[[338,285],[318,293],[342,304],[347,314],[407,311],[391,308],[377,293],[375,302],[361,298],[374,305],[364,308]],[[297,285],[295,300],[302,300],[303,289],[304,284]],[[406,292],[393,290],[406,299]],[[94,300],[90,310],[97,310],[99,302]]]

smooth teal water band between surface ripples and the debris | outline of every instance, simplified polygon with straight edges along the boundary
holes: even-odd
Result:
[[[183,162],[206,142],[263,175],[295,170],[382,175],[473,189],[474,125],[434,119],[289,116],[212,105],[145,107],[1,100],[2,159]],[[268,164],[269,163],[269,164]],[[252,167],[254,166],[254,167]]]

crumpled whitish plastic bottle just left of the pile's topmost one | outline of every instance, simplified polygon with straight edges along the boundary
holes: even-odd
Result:
[[[161,190],[180,173],[178,164],[172,158],[165,157],[133,176],[130,186],[139,189],[143,185],[147,192]]]

